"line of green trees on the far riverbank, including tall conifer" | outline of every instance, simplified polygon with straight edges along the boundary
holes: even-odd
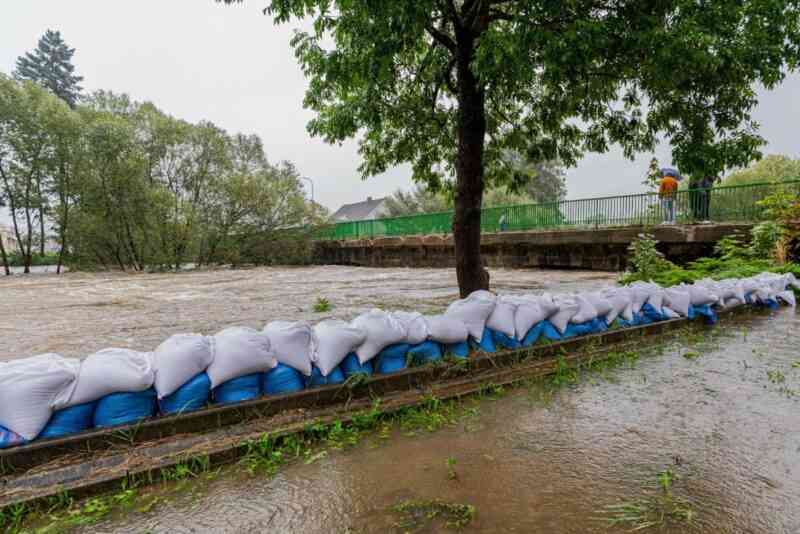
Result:
[[[271,164],[257,135],[179,120],[109,91],[81,95],[57,32],[0,74],[0,203],[25,272],[57,247],[83,268],[302,261],[310,224],[297,169]],[[290,257],[287,257],[290,256]]]

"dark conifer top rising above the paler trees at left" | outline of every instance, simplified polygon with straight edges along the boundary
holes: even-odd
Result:
[[[30,80],[49,89],[74,108],[80,97],[83,76],[75,74],[72,56],[75,49],[67,46],[61,32],[47,30],[33,52],[17,58],[14,77]]]

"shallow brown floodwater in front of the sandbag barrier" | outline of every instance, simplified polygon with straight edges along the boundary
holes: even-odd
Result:
[[[694,519],[642,532],[797,534],[800,316],[783,309],[714,332],[550,397],[520,387],[469,401],[478,414],[456,426],[395,431],[272,479],[232,466],[199,493],[87,531],[394,532],[394,505],[441,499],[475,507],[465,532],[627,532],[604,521],[606,507],[658,495],[669,468]]]

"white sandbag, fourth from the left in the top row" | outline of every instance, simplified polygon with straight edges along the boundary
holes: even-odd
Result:
[[[233,326],[214,335],[214,361],[206,369],[215,388],[240,376],[264,373],[278,365],[263,332]]]

